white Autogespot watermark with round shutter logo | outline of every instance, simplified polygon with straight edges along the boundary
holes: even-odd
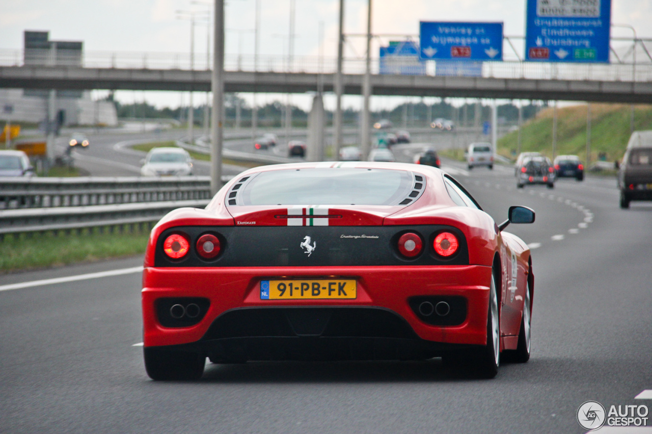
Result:
[[[606,411],[598,401],[586,401],[577,409],[577,422],[593,431],[606,426],[647,426],[646,405],[612,405]]]

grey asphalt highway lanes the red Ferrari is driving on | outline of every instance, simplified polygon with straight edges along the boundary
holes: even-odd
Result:
[[[411,161],[420,146],[394,153]],[[619,209],[614,179],[516,190],[511,167],[444,169],[497,222],[510,205],[537,211],[535,224],[507,229],[533,249],[527,364],[504,364],[492,380],[451,377],[438,359],[207,364],[200,381],[155,383],[134,346],[140,274],[51,283],[0,291],[0,432],[584,433],[576,411],[587,400],[652,406],[634,399],[652,389],[652,204]],[[13,274],[0,285],[140,264]]]

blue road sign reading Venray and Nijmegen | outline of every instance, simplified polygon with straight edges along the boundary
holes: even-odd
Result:
[[[503,60],[503,23],[419,23],[422,60]]]

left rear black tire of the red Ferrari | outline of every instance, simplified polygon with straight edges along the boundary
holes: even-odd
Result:
[[[206,357],[197,353],[156,347],[143,349],[143,356],[147,375],[156,381],[198,380],[206,362]]]

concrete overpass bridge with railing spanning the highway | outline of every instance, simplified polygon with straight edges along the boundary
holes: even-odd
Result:
[[[211,88],[210,70],[190,70],[179,61],[179,55],[169,53],[141,53],[142,57],[134,53],[123,57],[87,53],[84,66],[76,67],[23,65],[15,51],[19,50],[0,50],[0,87],[200,92]],[[205,65],[210,65],[209,59]],[[345,94],[361,94],[363,65],[363,59],[347,59]],[[319,87],[333,91],[332,59],[325,66],[316,57],[299,58],[288,68],[278,57],[252,62],[252,56],[230,56],[226,68],[227,92],[306,93]],[[373,69],[377,71],[378,65]],[[374,95],[652,103],[652,62],[485,62],[481,77],[436,76],[434,65],[430,65],[425,76],[372,74],[371,81]]]

